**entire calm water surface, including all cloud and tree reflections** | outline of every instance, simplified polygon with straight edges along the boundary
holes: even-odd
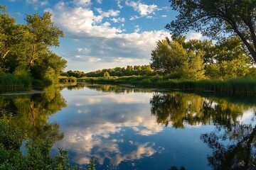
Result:
[[[0,95],[0,113],[87,169],[256,169],[255,96],[110,85]]]

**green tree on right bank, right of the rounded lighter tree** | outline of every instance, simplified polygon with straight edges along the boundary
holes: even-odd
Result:
[[[230,79],[250,74],[252,62],[239,38],[225,38],[213,46],[213,62],[206,64],[206,77]]]

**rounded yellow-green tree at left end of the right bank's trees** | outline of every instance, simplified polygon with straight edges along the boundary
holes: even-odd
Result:
[[[188,47],[191,47],[189,49]],[[204,52],[185,42],[185,38],[159,40],[151,53],[151,67],[160,74],[179,74],[181,79],[203,79]]]

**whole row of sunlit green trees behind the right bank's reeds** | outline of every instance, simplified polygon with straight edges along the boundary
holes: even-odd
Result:
[[[151,67],[170,79],[232,79],[253,77],[250,57],[238,38],[227,38],[213,45],[208,40],[186,37],[159,40],[151,53]]]

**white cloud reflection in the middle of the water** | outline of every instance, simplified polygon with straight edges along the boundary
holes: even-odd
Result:
[[[75,153],[72,160],[76,164],[88,164],[90,159],[95,157],[99,164],[109,159],[110,164],[114,166],[161,152],[163,148],[155,147],[154,142],[140,143],[136,139],[131,141],[122,137],[127,128],[133,130],[134,135],[142,136],[154,135],[164,129],[161,125],[157,125],[156,118],[149,114],[150,108],[145,110],[141,105],[137,105],[141,103],[148,106],[150,97],[151,94],[146,93],[139,98],[137,94],[130,93],[116,96],[112,94],[93,94],[90,97],[85,94],[70,96],[68,102],[72,101],[70,103],[75,105],[77,111],[73,113],[68,125],[61,126],[65,137],[55,145],[55,148],[63,147]],[[117,111],[113,111],[112,106],[107,104],[110,101],[114,103]],[[127,106],[132,107],[133,110],[131,111]],[[79,119],[76,114],[79,114]],[[122,149],[124,142],[128,142],[131,147],[128,152]]]

